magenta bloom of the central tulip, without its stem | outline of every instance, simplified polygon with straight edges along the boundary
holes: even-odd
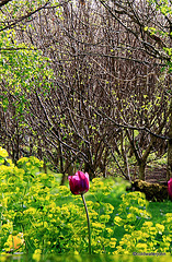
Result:
[[[74,176],[69,176],[69,186],[72,194],[83,194],[88,192],[90,188],[89,174],[83,174],[82,171],[77,171]]]

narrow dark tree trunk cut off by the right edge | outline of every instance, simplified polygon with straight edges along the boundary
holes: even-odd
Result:
[[[172,178],[172,98],[170,104],[170,129],[169,129],[169,142],[168,142],[168,168],[167,180]]]

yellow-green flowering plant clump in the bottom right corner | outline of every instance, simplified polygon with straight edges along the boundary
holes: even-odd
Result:
[[[119,216],[116,216],[114,222],[117,226],[123,226],[126,234],[122,237],[115,253],[171,253],[172,214],[168,213],[161,224],[153,224],[150,221],[151,215],[146,210],[148,202],[142,193],[130,192],[122,195],[122,199]]]

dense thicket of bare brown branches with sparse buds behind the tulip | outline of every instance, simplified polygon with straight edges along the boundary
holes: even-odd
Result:
[[[147,1],[46,1],[34,10],[10,24],[18,44],[42,50],[42,62],[49,58],[47,71],[54,71],[50,79],[33,75],[31,92],[22,90],[30,144],[58,168],[62,182],[73,166],[106,176],[116,153],[123,176],[130,179],[128,157],[135,154],[145,179],[149,154],[168,140],[170,75],[160,69],[171,61],[163,48],[170,43],[152,32],[156,25],[170,29],[168,20]]]

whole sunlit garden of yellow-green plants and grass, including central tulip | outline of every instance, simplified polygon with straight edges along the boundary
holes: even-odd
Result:
[[[60,186],[59,175],[41,172],[42,166],[33,156],[14,165],[0,148],[2,261],[12,254],[32,255],[36,262],[48,255],[57,255],[53,261],[58,255],[64,255],[62,261],[72,255],[72,261],[84,257],[85,261],[117,261],[114,258],[126,255],[138,261],[141,254],[167,261],[172,247],[170,200],[148,202],[139,191],[126,192],[127,181],[89,181],[81,171]]]

